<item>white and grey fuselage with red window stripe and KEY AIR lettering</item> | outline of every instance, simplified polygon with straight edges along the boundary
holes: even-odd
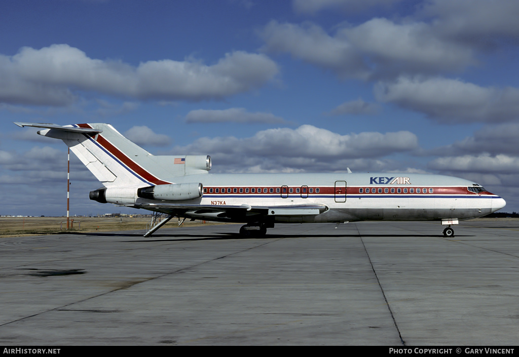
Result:
[[[175,181],[200,182],[201,205],[258,206],[321,203],[324,213],[275,217],[275,222],[424,221],[469,219],[504,207],[504,200],[457,177],[403,173],[203,174]],[[193,202],[193,201],[190,201]],[[190,218],[230,221],[213,213]],[[249,219],[249,218],[247,218]],[[241,219],[236,222],[247,222]]]

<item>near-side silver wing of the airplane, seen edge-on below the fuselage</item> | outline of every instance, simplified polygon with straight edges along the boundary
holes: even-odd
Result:
[[[242,205],[203,205],[184,203],[138,203],[131,205],[133,208],[143,208],[159,211],[171,215],[182,215],[183,213],[204,214],[216,213],[218,217],[238,216],[316,216],[328,210],[322,203],[294,204],[281,206],[251,206]]]

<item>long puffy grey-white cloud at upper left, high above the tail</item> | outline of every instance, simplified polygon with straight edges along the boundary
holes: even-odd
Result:
[[[151,100],[222,100],[265,85],[278,73],[264,54],[234,51],[213,65],[161,60],[131,66],[98,60],[69,45],[0,55],[0,102],[67,105],[75,90]]]

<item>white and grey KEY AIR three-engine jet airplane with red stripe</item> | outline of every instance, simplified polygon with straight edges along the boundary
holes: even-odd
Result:
[[[110,124],[15,124],[63,140],[103,184],[90,192],[91,200],[167,216],[144,237],[172,217],[244,223],[242,236],[264,236],[277,223],[438,221],[446,226],[443,236],[454,237],[452,225],[506,204],[481,185],[452,176],[349,169],[210,174],[210,156],[155,156]]]

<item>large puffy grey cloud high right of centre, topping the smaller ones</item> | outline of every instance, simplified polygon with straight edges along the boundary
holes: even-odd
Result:
[[[341,78],[395,78],[460,71],[476,63],[472,49],[437,36],[425,22],[374,18],[329,35],[320,26],[271,21],[260,33],[263,50],[331,70]]]

